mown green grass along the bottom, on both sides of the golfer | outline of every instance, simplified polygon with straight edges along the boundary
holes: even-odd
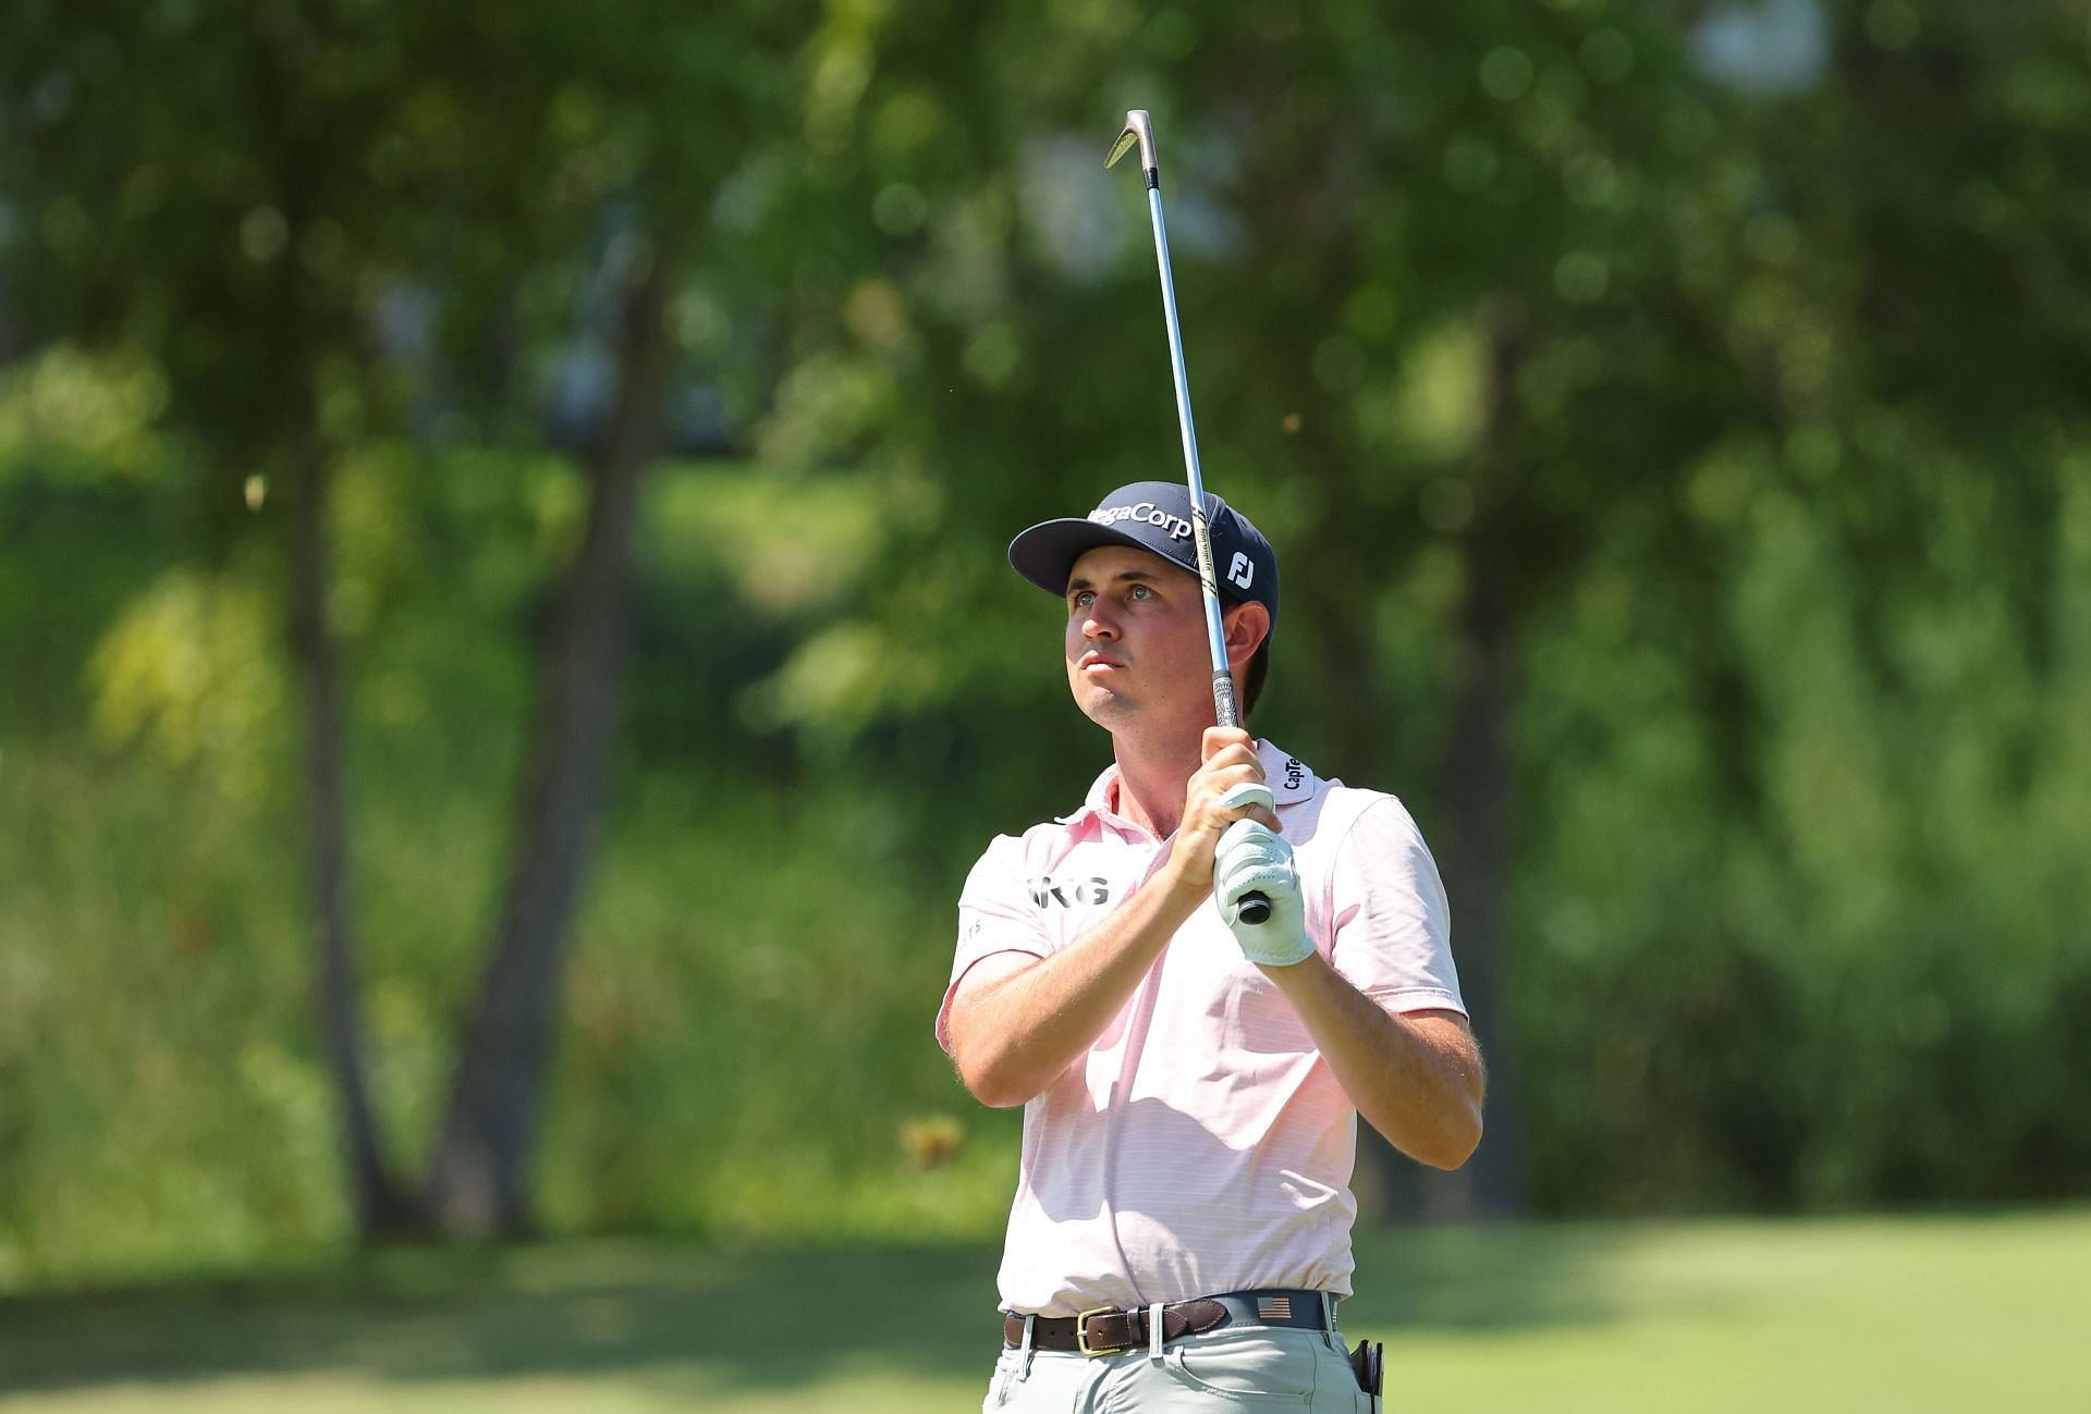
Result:
[[[2091,1211],[1361,1234],[1407,1410],[2091,1408]],[[0,1410],[972,1410],[995,1253],[562,1243],[0,1301]]]

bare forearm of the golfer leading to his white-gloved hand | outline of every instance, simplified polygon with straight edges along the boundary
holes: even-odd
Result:
[[[1401,1153],[1460,1168],[1480,1142],[1487,1076],[1457,1013],[1388,1015],[1319,957],[1263,967],[1365,1122]]]

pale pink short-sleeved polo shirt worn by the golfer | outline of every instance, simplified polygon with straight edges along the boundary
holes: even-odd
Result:
[[[1322,957],[1388,1011],[1464,1013],[1437,865],[1393,796],[1324,781],[1259,741]],[[1081,810],[999,835],[958,902],[937,1013],[995,952],[1050,957],[1131,894],[1165,842],[1112,812],[1119,769]],[[1351,1291],[1357,1111],[1219,911],[1198,909],[1089,1053],[1025,1105],[1002,1305],[1075,1316],[1250,1287]]]

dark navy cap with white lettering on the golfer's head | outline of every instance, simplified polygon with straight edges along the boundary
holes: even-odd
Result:
[[[1221,599],[1257,602],[1278,624],[1278,553],[1263,531],[1211,491],[1204,524],[1213,537],[1213,579]],[[1190,489],[1179,480],[1135,480],[1119,487],[1085,518],[1041,520],[1010,541],[1010,564],[1048,593],[1064,595],[1075,562],[1098,545],[1152,549],[1163,560],[1198,574],[1198,547],[1190,535]]]

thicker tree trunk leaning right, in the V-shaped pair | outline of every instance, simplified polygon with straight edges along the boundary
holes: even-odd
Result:
[[[625,297],[617,399],[588,455],[588,528],[544,654],[508,883],[422,1193],[447,1236],[533,1226],[529,1159],[550,1069],[567,938],[606,796],[640,485],[667,388],[669,261]]]

